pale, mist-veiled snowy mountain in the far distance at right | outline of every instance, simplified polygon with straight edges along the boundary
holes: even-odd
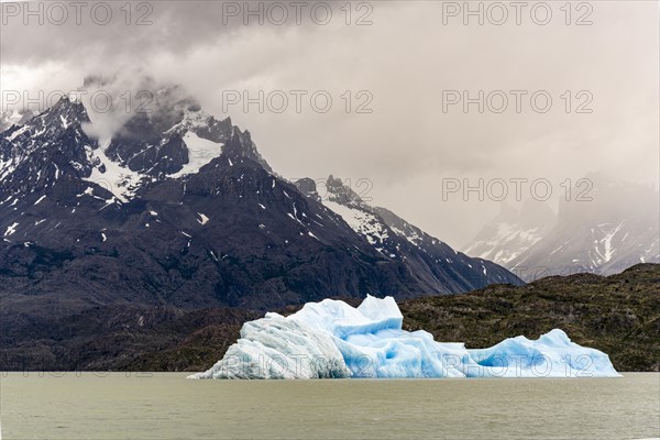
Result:
[[[660,262],[660,196],[651,187],[587,176],[588,199],[562,198],[557,216],[538,202],[501,213],[466,252],[488,257],[526,280],[548,275],[618,273]],[[572,188],[580,194],[584,188]],[[488,239],[492,237],[492,239]]]

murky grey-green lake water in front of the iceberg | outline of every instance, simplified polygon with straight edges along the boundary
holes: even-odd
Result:
[[[2,439],[640,439],[660,374],[562,380],[187,381],[3,373]]]

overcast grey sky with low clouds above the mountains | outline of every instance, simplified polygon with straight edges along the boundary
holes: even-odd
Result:
[[[208,112],[223,117],[227,110],[249,129],[283,176],[350,178],[373,205],[458,248],[497,212],[498,204],[480,201],[476,193],[469,201],[461,191],[443,197],[448,179],[476,186],[480,178],[542,178],[552,186],[550,201],[563,190],[562,182],[590,172],[658,185],[656,2],[574,2],[570,16],[563,1],[529,2],[519,11],[504,2],[508,19],[501,25],[495,22],[504,10],[488,10],[488,3],[483,25],[472,15],[464,24],[463,2],[353,2],[350,25],[340,10],[343,2],[328,2],[332,18],[324,25],[319,24],[324,8],[315,10],[315,22],[310,3],[304,2],[298,25],[296,9],[285,3],[289,16],[283,25],[268,20],[282,21],[275,9],[265,12],[263,25],[255,16],[245,25],[245,11],[233,16],[232,9],[243,2],[210,1],[135,2],[130,16],[119,10],[124,2],[113,3],[107,25],[91,20],[92,3],[81,10],[80,24],[70,8],[64,24],[48,23],[62,14],[45,4],[44,24],[29,16],[25,25],[22,9],[3,3],[0,89],[31,96],[40,89],[70,90],[90,74],[128,79],[148,74],[180,84]],[[470,4],[476,10],[480,3]],[[97,9],[95,20],[102,21],[103,12]],[[143,16],[152,24],[136,25]],[[245,112],[228,103],[233,90],[252,97],[282,90],[289,105],[282,113],[267,106],[260,112],[256,105]],[[308,92],[300,113],[292,90]],[[309,98],[320,90],[332,98],[326,113],[315,111]],[[479,103],[468,112],[461,102],[450,103],[464,90],[471,98],[484,90],[483,113]],[[508,107],[497,113],[503,95]],[[542,112],[548,96],[552,105]],[[271,103],[279,108],[280,101]],[[356,112],[359,105],[372,112]],[[499,194],[499,187],[492,189]],[[515,202],[515,185],[508,189],[506,200]],[[521,189],[529,196],[528,184]]]

